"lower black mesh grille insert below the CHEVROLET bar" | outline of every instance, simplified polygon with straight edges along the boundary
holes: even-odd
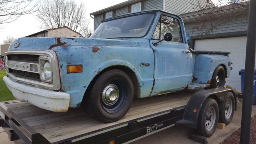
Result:
[[[22,70],[13,70],[13,69],[9,69],[9,72],[19,78],[26,78],[26,79],[41,81],[40,74],[38,74],[38,73],[26,72],[26,71],[22,71]]]

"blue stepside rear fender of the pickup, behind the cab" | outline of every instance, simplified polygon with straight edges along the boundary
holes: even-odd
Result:
[[[214,70],[222,65],[226,70],[226,77],[230,75],[230,58],[219,54],[199,54],[196,55],[194,64],[193,82],[210,84]]]

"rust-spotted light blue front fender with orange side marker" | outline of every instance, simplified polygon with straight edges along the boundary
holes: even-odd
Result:
[[[151,48],[123,46],[58,46],[52,50],[59,62],[61,90],[70,94],[70,107],[80,106],[92,80],[110,66],[126,66],[140,85],[138,97],[150,95],[154,82],[154,53]],[[143,56],[142,56],[143,54]],[[141,62],[150,63],[140,66]],[[67,72],[68,65],[82,65],[80,73]]]

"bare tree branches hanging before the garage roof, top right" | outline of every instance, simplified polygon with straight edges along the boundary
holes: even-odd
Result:
[[[211,34],[219,28],[228,28],[226,25],[233,26],[247,25],[249,10],[248,0],[217,0],[213,4],[206,0],[204,4],[198,1],[198,4],[191,3],[194,8],[199,9],[194,22],[198,24],[192,28],[198,35]]]

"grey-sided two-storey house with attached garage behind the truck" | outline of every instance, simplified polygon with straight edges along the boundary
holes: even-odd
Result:
[[[184,21],[186,34],[192,36],[190,48],[231,52],[229,56],[233,63],[233,70],[226,79],[226,85],[241,90],[238,74],[245,67],[248,1],[240,3],[239,0],[234,0],[234,4],[205,10],[195,8],[195,2],[200,2],[202,5],[206,0],[128,0],[92,12],[91,15],[94,16],[95,30],[102,20],[129,12],[159,9],[178,14]],[[212,18],[209,19],[209,17]]]

